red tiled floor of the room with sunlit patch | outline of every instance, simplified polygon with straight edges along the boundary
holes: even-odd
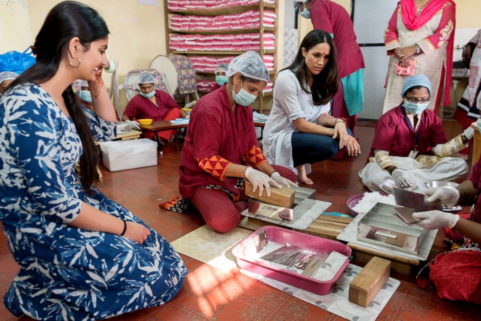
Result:
[[[445,122],[448,138],[457,128],[455,122]],[[368,124],[369,125],[369,124]],[[313,165],[309,176],[314,180],[317,198],[332,202],[328,211],[348,212],[346,200],[367,190],[357,173],[364,166],[374,128],[357,127],[355,136],[362,138],[362,155],[357,158],[328,160]],[[179,214],[159,209],[159,203],[178,195],[178,164],[180,149],[164,148],[158,166],[109,172],[101,166],[104,175],[101,191],[126,206],[144,222],[152,226],[168,241],[174,241],[204,225],[198,213]],[[468,175],[459,178],[466,179]],[[433,246],[433,254],[444,251],[439,234]],[[238,268],[223,273],[207,264],[181,255],[189,274],[177,296],[165,305],[128,313],[113,318],[124,320],[343,320],[330,312],[291,297],[284,292],[249,278]],[[0,235],[0,294],[8,289],[18,271],[18,265],[8,252],[5,236]],[[401,280],[401,286],[382,311],[379,320],[481,320],[479,306],[453,303],[439,299],[435,292],[421,290],[415,275],[392,273]],[[12,316],[3,302],[0,303],[0,320],[29,320]]]

